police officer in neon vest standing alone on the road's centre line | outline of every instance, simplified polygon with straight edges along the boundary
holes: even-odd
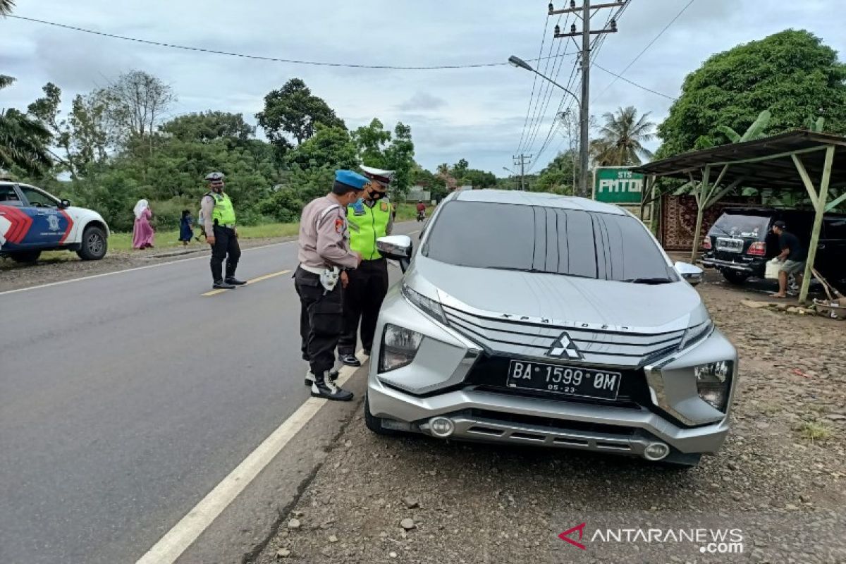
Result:
[[[232,200],[223,192],[223,173],[211,172],[206,176],[206,180],[209,183],[209,191],[203,196],[200,209],[203,228],[206,230],[206,242],[211,245],[211,285],[230,290],[247,283],[235,277],[235,269],[241,258],[238,232],[235,231],[235,210]],[[223,278],[222,274],[224,259],[226,278]]]

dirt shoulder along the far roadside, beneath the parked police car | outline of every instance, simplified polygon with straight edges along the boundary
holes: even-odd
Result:
[[[250,249],[290,240],[292,239],[254,238],[243,239],[240,243],[241,249]],[[201,254],[211,255],[208,245],[196,243],[185,248],[109,251],[102,260],[80,260],[75,253],[57,251],[48,253],[46,259],[38,260],[32,265],[19,264],[12,259],[3,258],[0,259],[0,292],[187,259]]]

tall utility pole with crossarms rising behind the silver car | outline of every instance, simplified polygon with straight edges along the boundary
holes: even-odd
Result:
[[[556,25],[555,26],[555,38],[561,39],[563,37],[575,37],[581,36],[582,38],[582,48],[580,51],[581,57],[581,74],[582,74],[582,91],[581,91],[581,101],[580,101],[580,135],[579,135],[579,162],[580,162],[580,175],[581,175],[581,182],[580,182],[580,195],[588,198],[591,196],[591,187],[588,185],[590,174],[589,169],[591,167],[590,162],[590,149],[591,149],[591,130],[590,130],[590,118],[591,118],[591,36],[592,35],[600,35],[603,33],[616,33],[617,32],[617,22],[612,19],[609,22],[609,27],[607,29],[591,31],[591,10],[600,10],[602,8],[620,8],[625,4],[624,0],[618,0],[614,3],[602,3],[602,4],[595,4],[591,6],[591,0],[583,0],[581,8],[576,7],[575,0],[570,0],[570,7],[564,8],[561,10],[556,10],[555,6],[552,3],[549,4],[549,15],[553,14],[576,14],[579,15],[581,12],[580,18],[582,20],[582,30],[577,31],[576,25],[573,24],[570,26],[569,33],[561,33],[561,28]]]

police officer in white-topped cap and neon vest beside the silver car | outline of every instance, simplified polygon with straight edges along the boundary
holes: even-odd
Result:
[[[362,256],[360,266],[349,272],[343,291],[343,333],[338,353],[343,364],[360,366],[355,342],[361,324],[361,347],[370,356],[379,308],[387,294],[387,260],[376,250],[376,239],[393,231],[393,205],[385,197],[393,171],[361,167],[370,183],[361,199],[347,208],[349,246]]]

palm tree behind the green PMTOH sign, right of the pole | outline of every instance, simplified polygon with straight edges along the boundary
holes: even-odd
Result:
[[[616,114],[604,114],[605,125],[599,130],[600,138],[591,142],[596,164],[601,167],[624,167],[639,165],[643,158],[651,159],[651,151],[643,146],[655,138],[652,133],[655,123],[648,121],[649,113],[638,118],[637,110],[629,106],[619,108]]]

